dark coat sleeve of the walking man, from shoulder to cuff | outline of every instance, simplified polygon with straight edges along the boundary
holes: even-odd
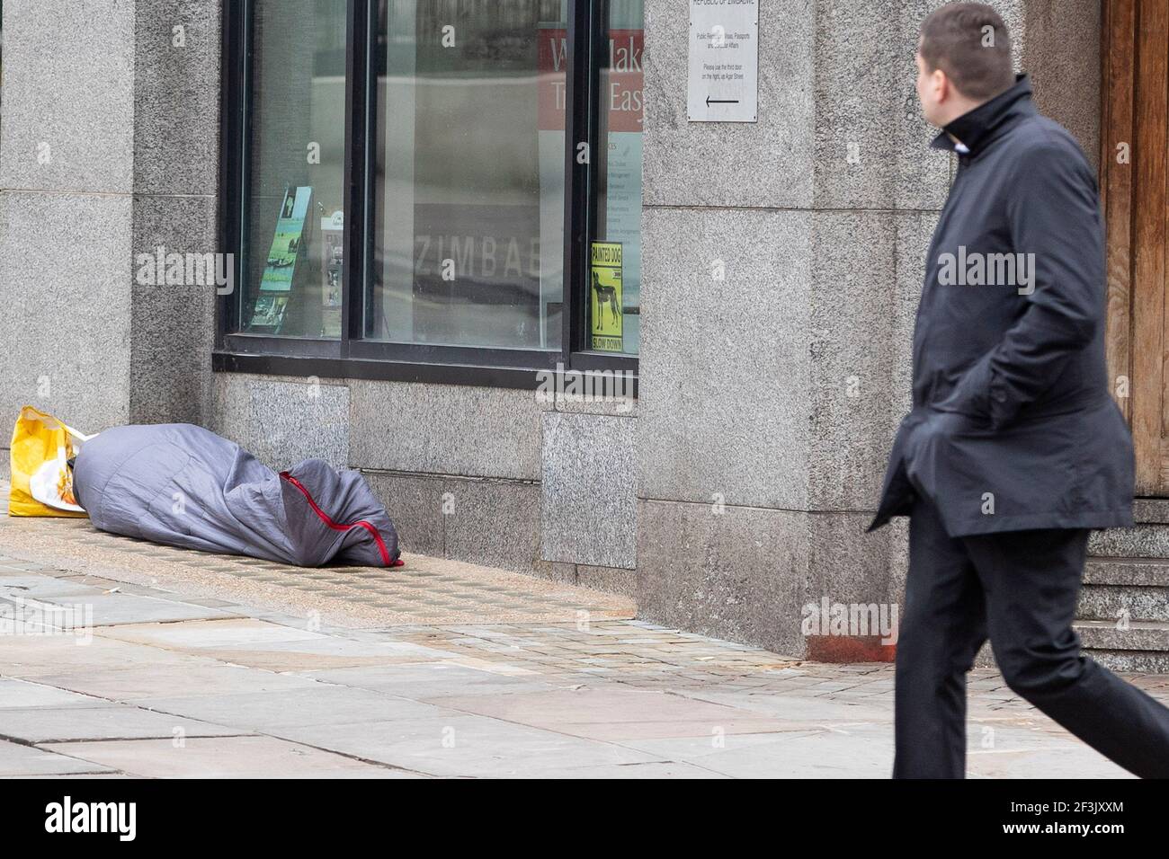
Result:
[[[995,429],[1050,388],[1085,348],[1104,312],[1104,231],[1095,180],[1070,143],[1029,147],[1009,185],[1007,227],[1026,261],[1015,296],[1024,303],[998,345],[966,373],[949,404]]]

